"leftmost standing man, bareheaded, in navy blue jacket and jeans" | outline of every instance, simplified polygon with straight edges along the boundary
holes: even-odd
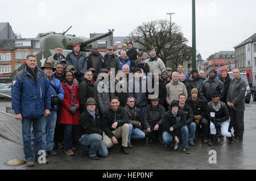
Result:
[[[34,151],[36,161],[38,151],[42,150],[42,121],[51,109],[51,93],[46,74],[36,66],[36,56],[27,55],[27,64],[14,77],[11,91],[11,104],[15,118],[22,121],[22,138],[27,166],[34,166],[34,155],[31,149],[30,129],[33,123],[35,132]]]

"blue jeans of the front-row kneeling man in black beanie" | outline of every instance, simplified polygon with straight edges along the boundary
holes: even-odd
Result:
[[[180,136],[181,133],[181,139],[182,139],[182,148],[183,149],[188,149],[188,128],[187,127],[182,127],[181,128],[181,132],[178,132],[178,137]],[[170,146],[172,143],[172,136],[170,133],[168,133],[167,131],[163,132],[163,141],[164,144]]]

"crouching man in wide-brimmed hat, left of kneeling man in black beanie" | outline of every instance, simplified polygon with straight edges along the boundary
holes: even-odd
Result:
[[[159,104],[158,95],[148,95],[150,104],[145,108],[144,111],[144,121],[143,121],[143,132],[146,134],[147,141],[149,143],[154,142],[156,137],[160,138],[159,127],[157,127],[158,122],[163,118],[166,109]]]

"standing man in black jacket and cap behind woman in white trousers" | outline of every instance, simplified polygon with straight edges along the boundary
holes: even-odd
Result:
[[[213,92],[217,91],[221,99],[224,96],[224,83],[217,79],[216,75],[216,70],[210,70],[209,79],[203,81],[203,85],[200,87],[199,96],[207,101],[207,103],[212,101]]]

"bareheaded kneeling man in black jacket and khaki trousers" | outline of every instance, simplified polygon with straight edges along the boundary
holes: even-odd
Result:
[[[113,96],[110,101],[110,108],[105,110],[103,113],[103,130],[105,135],[103,141],[107,148],[113,146],[113,144],[118,144],[117,139],[122,137],[122,147],[121,151],[124,154],[129,154],[127,150],[127,142],[130,127],[127,124],[127,112],[125,108],[119,107],[119,98]]]

